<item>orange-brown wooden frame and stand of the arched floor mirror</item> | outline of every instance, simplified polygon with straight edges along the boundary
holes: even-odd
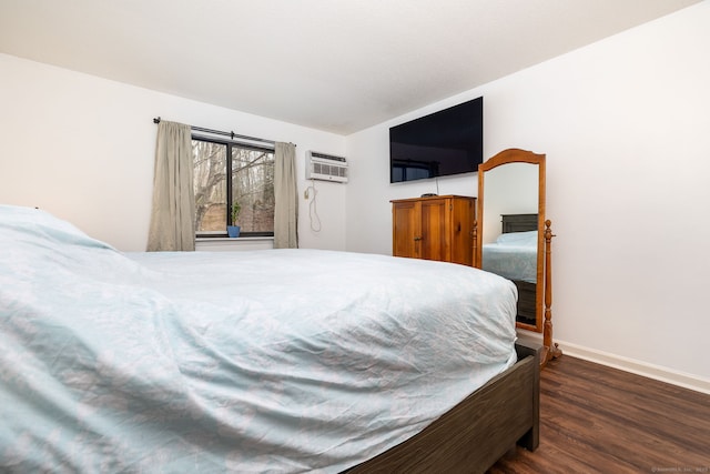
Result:
[[[478,165],[478,196],[476,223],[474,229],[474,266],[481,268],[483,263],[483,223],[484,223],[484,179],[485,173],[497,167],[508,163],[530,163],[538,165],[538,206],[537,206],[537,273],[535,289],[535,325],[516,322],[516,326],[542,333],[541,364],[545,365],[550,359],[561,355],[557,344],[552,344],[552,268],[551,268],[551,238],[550,221],[545,216],[545,189],[546,170],[545,154],[537,154],[531,151],[520,149],[508,149],[491,157],[486,162]],[[480,226],[480,229],[479,229]],[[540,284],[541,282],[541,284]],[[542,309],[545,305],[545,309]]]

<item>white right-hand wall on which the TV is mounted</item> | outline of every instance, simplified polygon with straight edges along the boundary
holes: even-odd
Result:
[[[347,249],[390,253],[388,200],[436,192],[388,183],[388,127],[484,95],[487,157],[547,154],[556,339],[709,381],[708,24],[701,2],[348,137]]]

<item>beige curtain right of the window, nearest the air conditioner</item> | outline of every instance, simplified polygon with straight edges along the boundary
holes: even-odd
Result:
[[[274,148],[274,249],[298,248],[298,190],[296,145],[276,142]]]

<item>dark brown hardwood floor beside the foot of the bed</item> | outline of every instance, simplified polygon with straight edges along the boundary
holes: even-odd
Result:
[[[710,473],[710,395],[568,355],[540,376],[540,445],[500,473]]]

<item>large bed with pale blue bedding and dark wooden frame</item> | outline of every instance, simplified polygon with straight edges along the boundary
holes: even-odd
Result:
[[[123,253],[0,206],[0,471],[484,472],[538,444],[516,289],[315,250]]]

